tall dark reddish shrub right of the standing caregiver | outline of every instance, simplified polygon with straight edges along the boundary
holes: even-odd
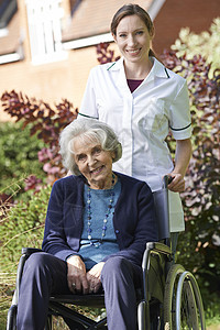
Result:
[[[179,262],[197,275],[201,287],[220,292],[220,70],[210,78],[211,64],[200,55],[188,58],[165,52],[163,61],[187,79],[193,118],[194,153],[182,194],[186,232],[179,238]]]

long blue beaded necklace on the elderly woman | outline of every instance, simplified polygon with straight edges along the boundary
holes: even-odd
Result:
[[[88,208],[88,217],[87,217],[87,232],[88,232],[88,240],[90,241],[90,245],[95,246],[95,248],[99,248],[102,244],[103,238],[106,237],[106,231],[107,231],[107,222],[108,222],[108,218],[112,211],[113,208],[113,200],[114,200],[114,191],[113,191],[113,186],[114,186],[114,179],[116,176],[114,174],[112,174],[112,186],[111,186],[111,194],[110,194],[110,200],[109,200],[109,205],[108,205],[108,209],[106,211],[105,215],[105,219],[103,219],[103,223],[102,223],[102,232],[101,232],[101,239],[92,242],[92,237],[91,237],[91,189],[90,187],[88,187],[88,191],[87,191],[87,208]]]

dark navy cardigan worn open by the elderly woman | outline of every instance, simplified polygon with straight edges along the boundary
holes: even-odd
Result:
[[[121,194],[113,216],[120,249],[116,255],[141,266],[146,242],[157,241],[153,195],[146,183],[119,173],[117,175],[121,180]],[[62,260],[79,251],[84,185],[82,176],[68,176],[55,182],[52,189],[42,249]]]

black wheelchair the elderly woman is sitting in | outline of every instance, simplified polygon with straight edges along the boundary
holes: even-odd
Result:
[[[204,305],[197,280],[190,272],[175,263],[172,254],[167,185],[168,177],[166,176],[163,188],[153,193],[160,241],[146,243],[143,255],[143,288],[141,293],[136,293],[138,329],[205,330]],[[19,288],[24,263],[32,253],[40,251],[32,248],[22,249],[16,286],[8,312],[7,330],[16,329]],[[73,309],[72,306],[105,308],[105,295],[52,296],[45,330],[53,329],[53,316],[62,317],[69,329],[108,329],[106,317],[96,321],[81,314],[80,310]]]

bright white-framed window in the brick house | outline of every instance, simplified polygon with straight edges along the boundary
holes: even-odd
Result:
[[[33,64],[62,61],[62,0],[26,0],[29,34]]]

